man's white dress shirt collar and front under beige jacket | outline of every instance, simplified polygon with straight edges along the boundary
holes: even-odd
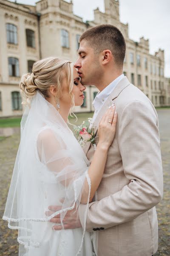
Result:
[[[104,90],[102,90],[100,93],[98,93],[93,101],[94,106],[94,116],[93,116],[93,122],[96,119],[97,113],[100,111],[100,108],[102,108],[103,103],[108,99],[108,96],[112,93],[112,91],[115,89],[116,85],[119,83],[120,80],[124,77],[124,74],[118,76],[111,84],[109,84],[107,87],[105,87]]]

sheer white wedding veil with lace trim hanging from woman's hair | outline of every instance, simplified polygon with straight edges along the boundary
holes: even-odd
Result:
[[[91,187],[88,166],[68,125],[37,91],[21,120],[20,146],[3,216],[9,228],[18,229],[17,240],[23,251],[20,255],[27,255],[24,253],[30,247],[43,243],[46,228],[52,230],[54,225],[49,220],[58,213],[62,224],[59,236],[64,237],[68,230],[64,229],[63,218],[68,211],[79,207],[82,195],[87,204],[86,222]],[[61,206],[61,210],[47,216],[49,205]],[[75,241],[75,255],[82,248],[84,234],[85,228],[81,239]]]

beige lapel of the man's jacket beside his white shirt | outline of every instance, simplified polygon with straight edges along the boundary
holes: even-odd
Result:
[[[130,81],[127,79],[125,76],[119,83],[116,85],[116,88],[113,90],[113,92],[109,95],[108,99],[105,101],[105,103],[102,105],[102,108],[98,112],[96,119],[94,120],[94,134],[96,135],[98,127],[99,127],[99,122],[102,119],[102,116],[105,114],[105,112],[108,110],[109,106],[111,106],[114,102],[114,99],[116,99],[119,94],[124,90],[128,85],[130,84]],[[85,146],[83,147],[83,150],[85,154],[88,153],[88,150],[91,146],[91,142],[85,143]]]

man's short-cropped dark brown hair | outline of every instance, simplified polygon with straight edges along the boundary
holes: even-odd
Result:
[[[122,67],[126,52],[125,38],[118,28],[110,24],[94,26],[86,30],[79,42],[88,41],[96,53],[109,49],[117,66]]]

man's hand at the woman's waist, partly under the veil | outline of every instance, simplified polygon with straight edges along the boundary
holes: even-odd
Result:
[[[61,210],[62,206],[51,205],[48,207],[48,209],[49,211],[45,212],[45,215],[51,216],[54,212]],[[63,228],[62,225],[59,225],[61,224],[60,214],[51,218],[50,222],[57,224],[53,226],[54,230],[62,230]],[[68,211],[64,219],[62,220],[62,223],[63,223],[64,229],[75,229],[75,228],[82,227],[81,222],[79,220],[78,209],[74,207],[73,210]]]

